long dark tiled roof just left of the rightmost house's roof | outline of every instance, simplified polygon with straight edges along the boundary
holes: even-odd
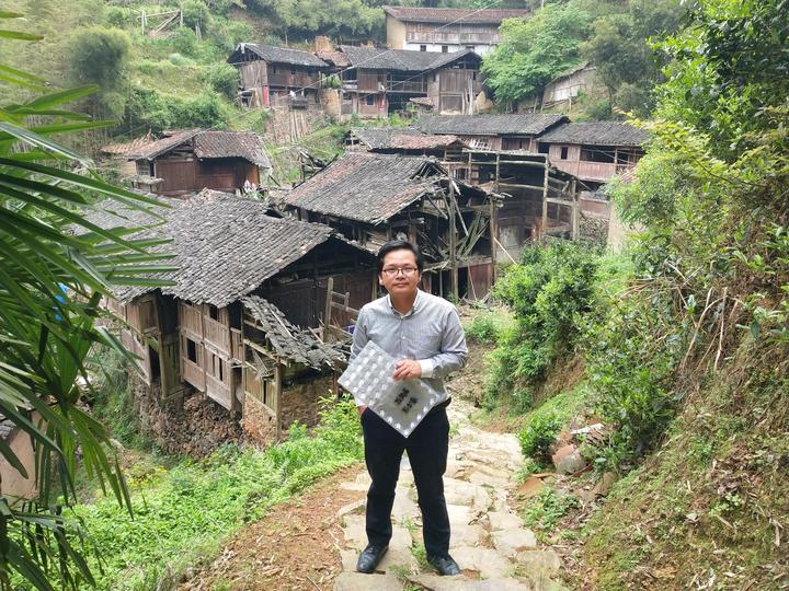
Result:
[[[425,134],[457,136],[536,136],[567,121],[564,115],[517,113],[513,115],[432,115],[420,120]]]

